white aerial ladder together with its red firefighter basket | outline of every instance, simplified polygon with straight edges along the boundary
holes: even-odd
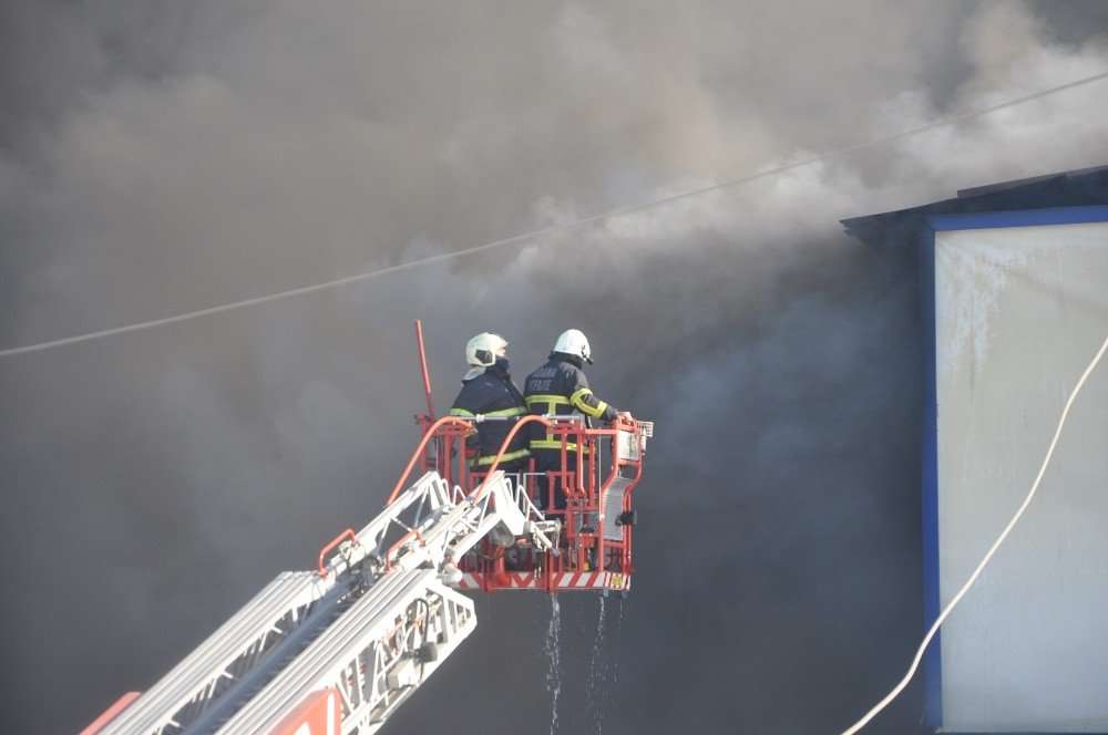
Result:
[[[632,491],[653,424],[516,421],[501,456],[529,423],[562,441],[567,462],[551,476],[564,483],[566,508],[543,513],[553,498],[536,498],[534,473],[506,475],[500,456],[471,472],[465,438],[495,417],[434,417],[416,328],[428,413],[416,417],[422,441],[384,509],[320,549],[314,570],[278,574],[161,681],[121,697],[81,735],[376,733],[476,625],[460,590],[626,597]],[[582,451],[568,452],[572,444]]]

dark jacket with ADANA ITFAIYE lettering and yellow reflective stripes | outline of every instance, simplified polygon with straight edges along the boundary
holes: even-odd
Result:
[[[540,416],[543,414],[581,414],[585,416],[586,426],[591,425],[591,418],[614,421],[618,412],[593,395],[581,368],[581,358],[564,352],[552,352],[550,361],[527,375],[527,380],[523,384],[527,411]],[[545,426],[542,424],[533,425],[531,432],[532,451],[561,448],[561,439],[548,434]],[[566,445],[568,451],[576,448],[576,444]]]

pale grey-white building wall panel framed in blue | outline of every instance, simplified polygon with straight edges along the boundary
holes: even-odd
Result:
[[[938,593],[1023,501],[1108,337],[1108,222],[935,232]],[[1108,361],[942,631],[946,732],[1108,732]]]

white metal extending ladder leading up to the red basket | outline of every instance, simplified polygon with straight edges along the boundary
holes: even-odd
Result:
[[[448,587],[458,560],[486,536],[548,551],[557,532],[503,473],[465,494],[429,472],[361,531],[325,547],[316,571],[279,574],[85,735],[291,735],[309,732],[298,704],[322,692],[335,695],[334,732],[373,733],[476,624],[473,602]]]

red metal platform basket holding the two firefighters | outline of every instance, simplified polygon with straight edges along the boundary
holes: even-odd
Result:
[[[593,428],[579,415],[530,415],[511,417],[515,425],[509,432],[495,462],[478,472],[470,466],[465,438],[482,421],[504,421],[501,417],[476,416],[434,418],[431,386],[428,380],[422,330],[416,322],[423,386],[428,413],[419,414],[422,442],[416,451],[390,497],[394,498],[404,479],[419,464],[422,470],[437,472],[463,496],[480,499],[484,482],[496,472],[506,448],[532,424],[541,424],[562,444],[562,469],[544,473],[546,487],[553,495],[558,484],[565,489],[566,508],[554,509],[553,497],[538,497],[538,473],[533,462],[525,472],[509,475],[520,491],[526,494],[537,518],[561,522],[557,545],[540,550],[526,539],[489,537],[478,544],[458,562],[459,589],[483,590],[595,590],[626,594],[634,572],[633,529],[636,514],[633,491],[643,475],[646,439],[653,435],[649,422],[614,422],[605,428]],[[568,447],[576,445],[576,451]],[[459,498],[461,499],[461,498]],[[540,508],[547,508],[540,511]]]

